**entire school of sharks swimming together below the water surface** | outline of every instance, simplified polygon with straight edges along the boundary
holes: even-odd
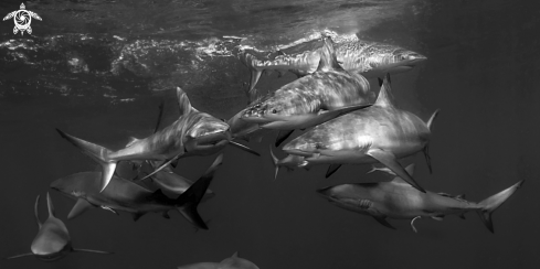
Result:
[[[56,129],[61,138],[99,165],[99,171],[81,171],[50,184],[52,190],[75,201],[66,218],[73,219],[93,208],[117,215],[128,213],[134,220],[147,213],[170,218],[169,212],[177,211],[197,229],[210,229],[198,206],[215,200],[209,187],[226,160],[221,152],[232,146],[245,154],[261,157],[247,144],[261,143],[262,133],[268,132],[276,133],[269,144],[274,179],[282,166],[292,171],[320,164],[328,164],[325,177],[330,177],[345,164],[372,165],[369,173],[377,171],[391,177],[314,190],[314,195],[347,211],[371,216],[391,229],[394,227],[389,219],[407,219],[411,228],[419,233],[414,226],[417,219],[442,220],[452,214],[465,218],[465,213],[476,212],[487,229],[495,233],[493,213],[523,184],[523,180],[518,180],[476,203],[465,200],[464,195],[431,192],[415,179],[415,164],[405,165],[403,160],[421,153],[433,174],[428,149],[440,111],[432,111],[431,117],[422,119],[400,109],[392,94],[399,85],[392,85],[391,77],[427,61],[420,53],[390,44],[321,34],[309,42],[283,45],[266,52],[265,56],[248,49],[240,50],[235,56],[251,73],[245,89],[248,104],[229,120],[198,110],[182,88],[176,87],[180,111],[176,121],[161,127],[163,107],[160,106],[153,133],[129,138],[121,149],[107,149],[84,140],[84,133]],[[264,72],[278,72],[279,77],[290,72],[297,79],[263,95],[256,85]],[[379,84],[370,85],[370,78],[377,78]],[[295,137],[295,132],[300,134]],[[275,154],[279,147],[286,154],[283,159]],[[197,181],[177,174],[178,160],[194,155],[218,157]],[[119,165],[127,165],[136,176],[119,173]],[[351,176],[351,181],[357,177]],[[33,256],[55,261],[75,252],[113,254],[74,248],[66,225],[55,215],[49,193],[49,218],[44,223],[39,218],[39,201],[40,196],[34,207],[39,232],[31,243],[31,252],[6,259]],[[327,206],[326,202],[321,202],[321,206]],[[178,268],[258,267],[235,252],[221,262]]]

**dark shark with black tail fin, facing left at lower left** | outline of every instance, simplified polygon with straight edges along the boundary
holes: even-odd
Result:
[[[117,213],[116,211],[131,213],[135,220],[149,212],[162,213],[163,217],[169,218],[168,212],[178,209],[190,223],[199,228],[208,229],[197,207],[207,194],[208,186],[215,170],[222,163],[222,159],[220,154],[207,172],[177,198],[166,196],[161,190],[151,192],[133,181],[116,175],[100,192],[100,172],[72,174],[54,181],[51,187],[77,200],[67,216],[68,219],[93,207],[102,207],[114,213]]]

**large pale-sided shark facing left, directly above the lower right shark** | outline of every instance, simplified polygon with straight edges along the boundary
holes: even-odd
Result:
[[[300,166],[331,164],[327,177],[343,163],[380,162],[424,192],[398,159],[424,151],[431,171],[427,154],[430,127],[437,112],[424,122],[414,114],[398,109],[393,105],[390,75],[387,74],[373,106],[316,126],[289,141],[283,150],[305,157]]]

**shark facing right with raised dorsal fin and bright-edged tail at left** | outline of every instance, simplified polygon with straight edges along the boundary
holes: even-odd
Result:
[[[100,191],[103,191],[113,177],[118,161],[167,161],[155,171],[158,172],[176,159],[189,155],[214,154],[230,142],[231,132],[226,122],[193,108],[188,95],[180,87],[177,87],[177,96],[180,117],[174,122],[145,139],[134,139],[118,151],[106,149],[64,133],[59,129],[56,130],[63,138],[102,165]],[[258,155],[257,152],[245,146],[232,144]]]

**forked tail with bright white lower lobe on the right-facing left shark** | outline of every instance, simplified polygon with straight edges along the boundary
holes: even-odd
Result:
[[[112,151],[105,147],[84,141],[76,137],[72,137],[59,129],[56,129],[56,131],[60,133],[60,136],[70,141],[77,149],[80,149],[84,154],[88,155],[94,161],[99,163],[99,165],[102,166],[102,189],[99,190],[99,192],[103,192],[103,190],[105,190],[107,184],[110,182],[110,179],[113,179],[113,174],[116,170],[116,164],[118,163],[117,161],[107,160],[107,155],[110,154]]]

